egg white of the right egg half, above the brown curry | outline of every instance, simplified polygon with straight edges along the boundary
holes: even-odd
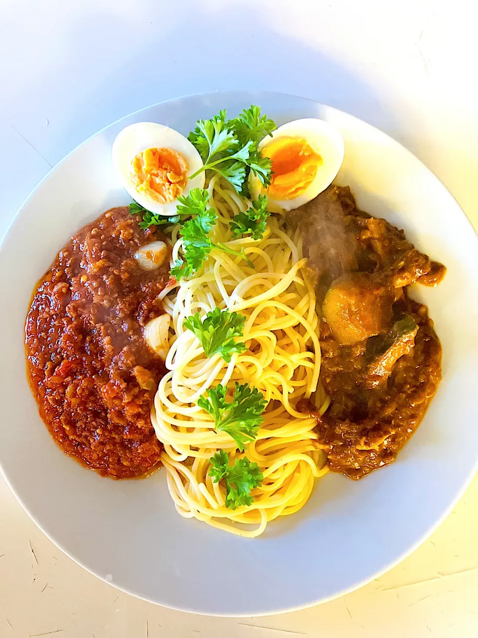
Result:
[[[322,158],[322,164],[317,168],[317,174],[307,188],[293,199],[275,200],[269,198],[269,210],[272,212],[291,211],[322,193],[337,176],[342,161],[344,160],[344,138],[328,122],[324,122],[314,117],[293,120],[282,124],[272,133],[272,137],[267,135],[259,143],[259,152],[264,146],[270,144],[278,137],[300,137]],[[256,175],[249,175],[249,190],[253,199],[257,199],[259,194],[266,194],[266,189],[262,186]]]

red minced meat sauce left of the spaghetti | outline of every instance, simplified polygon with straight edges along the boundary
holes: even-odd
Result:
[[[101,475],[138,477],[159,463],[150,408],[163,361],[143,326],[163,313],[166,259],[140,269],[136,250],[164,237],[127,207],[80,230],[34,291],[25,323],[29,383],[66,454]]]

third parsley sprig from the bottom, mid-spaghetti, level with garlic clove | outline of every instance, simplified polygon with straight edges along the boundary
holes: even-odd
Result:
[[[234,352],[241,353],[247,350],[245,343],[235,341],[236,337],[242,337],[244,323],[244,315],[214,308],[207,313],[204,321],[201,321],[201,315],[196,313],[185,319],[183,325],[194,332],[203,346],[206,357],[220,354],[222,359],[229,363]]]

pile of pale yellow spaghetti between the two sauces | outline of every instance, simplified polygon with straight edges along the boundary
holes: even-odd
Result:
[[[263,533],[268,521],[303,507],[314,478],[327,471],[314,433],[315,420],[295,407],[302,397],[315,399],[321,412],[327,407],[317,390],[320,346],[315,294],[303,276],[307,260],[301,256],[300,241],[287,235],[280,219],[268,219],[262,239],[231,241],[229,221],[247,209],[247,201],[217,175],[208,192],[218,213],[212,241],[243,249],[254,268],[213,248],[201,274],[182,279],[175,295],[164,297],[173,326],[163,343],[168,373],[159,383],[151,420],[164,445],[161,461],[179,514],[253,538]],[[172,229],[172,240],[174,262],[182,244],[178,226]],[[204,316],[214,308],[246,318],[242,339],[247,351],[233,353],[229,363],[219,354],[207,358],[194,333],[183,325],[194,313]],[[198,406],[199,397],[210,387],[221,383],[232,389],[235,382],[256,387],[268,403],[257,438],[244,453],[228,433],[214,430],[214,421]],[[228,452],[231,463],[247,456],[261,468],[263,482],[252,490],[249,507],[227,508],[224,486],[209,476],[210,458],[221,449]]]

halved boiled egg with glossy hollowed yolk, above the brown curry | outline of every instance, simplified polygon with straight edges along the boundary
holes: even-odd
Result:
[[[323,120],[307,118],[287,122],[258,146],[272,162],[272,178],[264,188],[254,174],[249,177],[253,199],[269,198],[272,212],[291,211],[317,197],[336,177],[344,159],[344,139]]]

